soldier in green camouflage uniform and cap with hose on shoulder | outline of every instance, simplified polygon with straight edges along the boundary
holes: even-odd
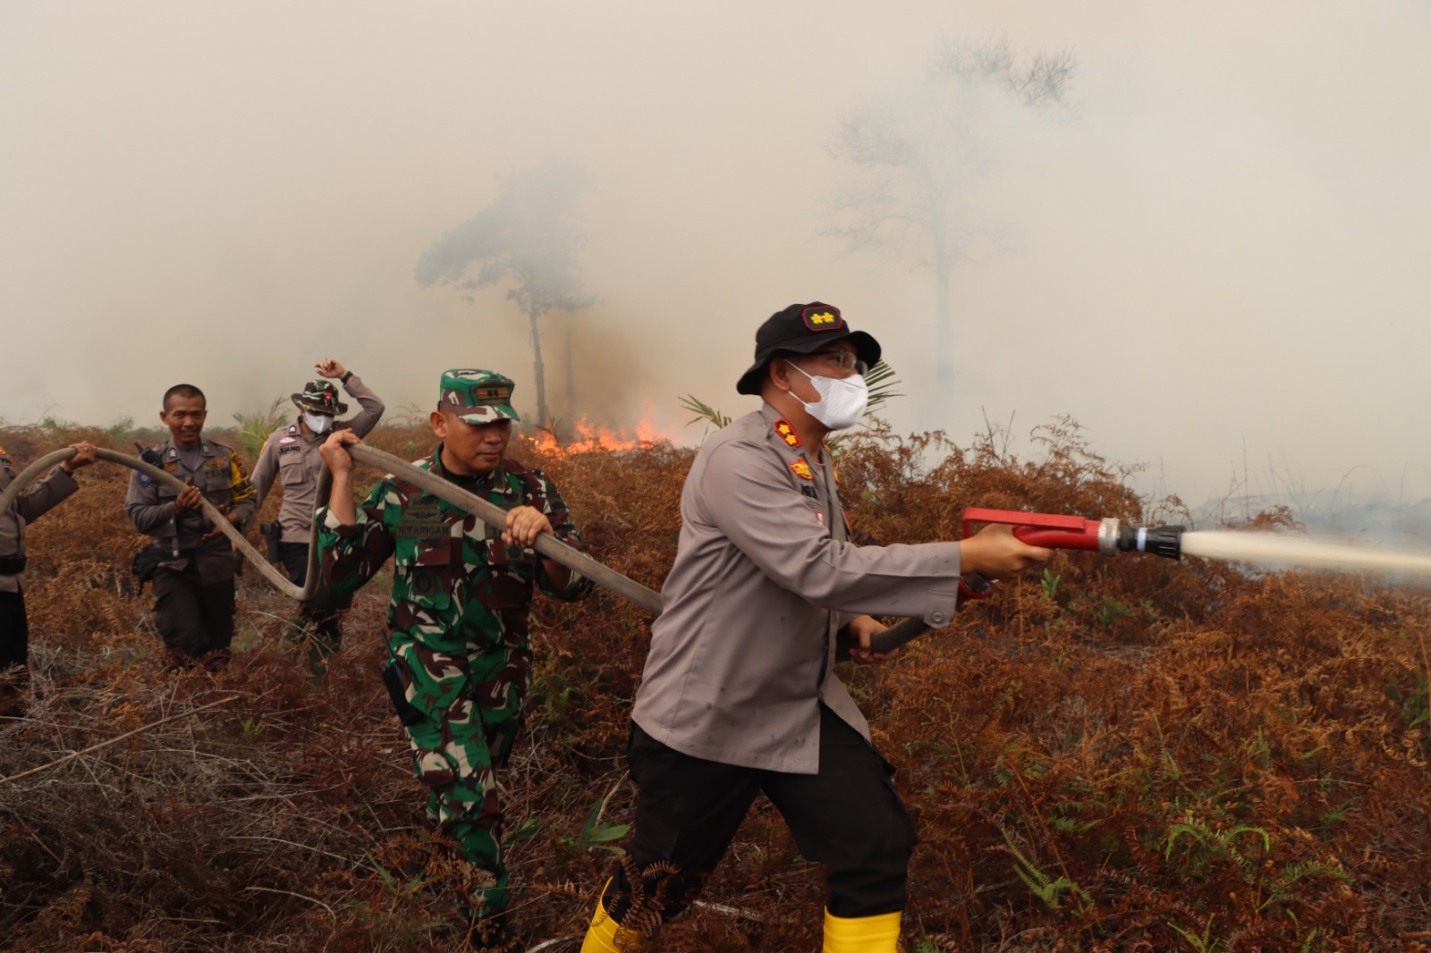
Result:
[[[512,750],[531,681],[528,614],[532,590],[580,600],[591,581],[529,549],[542,532],[581,547],[557,488],[541,471],[504,456],[517,412],[512,382],[491,371],[442,375],[432,432],[442,441],[416,465],[507,508],[505,527],[388,475],[353,507],[358,442],[339,431],[323,444],[333,474],[321,527],[323,574],[352,591],[394,558],[384,681],[412,746],[418,777],[431,788],[428,818],[489,877],[471,897],[488,940],[507,906],[502,810],[494,770]]]

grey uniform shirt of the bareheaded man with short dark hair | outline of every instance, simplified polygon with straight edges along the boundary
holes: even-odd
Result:
[[[173,441],[165,441],[155,448],[155,452],[159,454],[163,469],[180,481],[192,481],[203,498],[215,507],[228,507],[230,512],[239,514],[242,517],[239,521],[240,532],[253,521],[253,515],[258,512],[253,485],[243,469],[243,461],[232,448],[200,438],[197,466],[185,462]],[[238,565],[233,544],[223,534],[200,542],[199,538],[213,527],[199,509],[190,509],[176,521],[175,497],[177,495],[172,487],[135,471],[129,478],[124,512],[129,514],[135,529],[153,537],[160,545],[169,547],[170,552],[180,554],[159,565],[183,570],[192,558],[199,564],[199,581],[203,585],[230,578]]]

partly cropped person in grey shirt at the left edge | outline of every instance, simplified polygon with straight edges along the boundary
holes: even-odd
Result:
[[[94,462],[94,446],[70,444],[77,452],[30,485],[0,512],[0,694],[19,690],[30,661],[30,624],[24,615],[24,527],[79,489],[72,474]],[[14,462],[0,449],[0,492],[14,479]],[[9,673],[14,665],[19,673]],[[9,673],[9,678],[6,674]]]

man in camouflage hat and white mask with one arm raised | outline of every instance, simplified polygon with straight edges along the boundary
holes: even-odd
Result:
[[[283,485],[283,505],[278,512],[278,551],[293,585],[303,585],[308,580],[308,541],[313,529],[318,476],[323,469],[319,448],[333,431],[346,429],[366,436],[382,419],[384,411],[378,395],[341,362],[329,358],[313,366],[321,376],[335,378],[342,383],[362,411],[346,421],[338,421],[338,415],[348,412],[348,405],[338,399],[338,388],[328,381],[309,381],[302,394],[293,395],[298,419],[269,434],[259,452],[259,462],[253,466],[253,488],[258,489],[260,508],[273,488],[275,476]],[[342,641],[339,612],[352,605],[352,592],[333,592],[323,581],[318,584],[313,597],[302,604],[299,612],[313,630],[308,660],[313,671],[322,671],[323,661],[338,651]]]

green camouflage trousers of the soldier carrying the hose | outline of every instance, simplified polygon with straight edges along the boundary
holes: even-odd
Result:
[[[492,647],[459,655],[399,638],[389,648],[394,661],[384,678],[414,771],[428,787],[428,821],[481,874],[469,897],[472,914],[497,914],[507,907],[508,873],[495,771],[521,730],[531,651]]]

